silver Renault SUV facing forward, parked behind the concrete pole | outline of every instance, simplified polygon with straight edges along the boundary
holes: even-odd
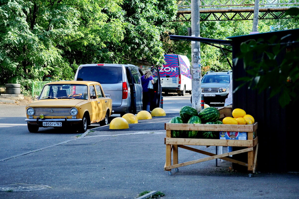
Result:
[[[222,72],[209,71],[202,77],[201,88],[205,104],[224,102],[228,96],[232,70]]]

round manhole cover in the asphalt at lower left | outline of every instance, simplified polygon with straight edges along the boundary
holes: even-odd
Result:
[[[51,188],[48,185],[42,184],[9,184],[0,186],[2,192],[29,192],[41,189]]]

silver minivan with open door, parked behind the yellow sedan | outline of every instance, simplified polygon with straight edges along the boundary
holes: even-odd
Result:
[[[154,84],[151,110],[160,107],[161,85],[158,68],[152,69]],[[141,76],[143,72],[132,64],[82,64],[78,67],[75,80],[97,81],[106,96],[112,99],[114,114],[136,114],[143,110]]]

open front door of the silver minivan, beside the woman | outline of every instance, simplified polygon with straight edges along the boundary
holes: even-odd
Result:
[[[155,84],[153,84],[152,89],[152,101],[150,104],[150,110],[161,107],[161,95],[162,95],[162,87],[160,82],[160,75],[158,67],[154,67],[151,69],[152,77],[154,78]]]

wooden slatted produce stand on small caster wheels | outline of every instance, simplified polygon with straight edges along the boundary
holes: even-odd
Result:
[[[257,122],[248,125],[228,125],[228,124],[171,124],[165,123],[166,138],[164,144],[166,145],[166,162],[164,170],[168,171],[171,175],[171,169],[175,169],[181,166],[213,160],[216,158],[237,163],[248,167],[249,173],[254,173],[257,165],[257,149],[258,149],[258,137],[256,134]],[[191,138],[171,138],[171,130],[197,130],[197,131],[233,131],[233,132],[247,132],[247,140],[220,140],[220,139],[191,139]],[[255,133],[255,138],[254,138]],[[224,154],[213,154],[210,152],[202,151],[185,145],[201,145],[201,146],[241,146],[247,147]],[[187,149],[190,151],[209,155],[210,157],[201,158],[198,160],[179,163],[178,161],[178,147]],[[173,152],[173,164],[171,164],[171,152]],[[235,155],[239,153],[247,152],[248,162],[241,162],[228,158],[229,155]]]

